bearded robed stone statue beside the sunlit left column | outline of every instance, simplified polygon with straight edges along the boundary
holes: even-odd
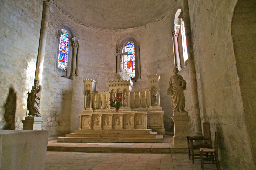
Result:
[[[40,113],[40,100],[41,100],[41,91],[42,86],[39,85],[39,80],[36,79],[34,86],[32,86],[31,93],[27,93],[28,95],[28,116],[37,116],[41,117]]]

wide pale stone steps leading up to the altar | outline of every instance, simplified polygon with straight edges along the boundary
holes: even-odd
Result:
[[[75,133],[57,138],[57,142],[85,143],[161,143],[162,141],[163,135],[157,135],[152,129],[75,130]]]

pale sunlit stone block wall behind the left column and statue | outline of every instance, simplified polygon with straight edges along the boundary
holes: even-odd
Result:
[[[34,84],[42,5],[38,0],[1,1],[1,129],[23,128],[21,120],[26,116],[27,92]],[[72,86],[70,79],[56,72],[57,43],[56,29],[49,26],[40,107],[42,129],[49,130],[49,136],[70,131]]]

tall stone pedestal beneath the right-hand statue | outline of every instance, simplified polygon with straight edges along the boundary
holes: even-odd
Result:
[[[187,136],[189,136],[188,113],[185,112],[176,112],[174,113],[173,122],[174,122],[174,136],[173,136],[173,145],[176,148],[187,148]]]

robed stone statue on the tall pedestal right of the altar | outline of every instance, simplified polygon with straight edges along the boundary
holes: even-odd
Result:
[[[173,69],[174,75],[171,76],[168,84],[167,95],[171,95],[173,112],[185,111],[185,96],[183,90],[186,90],[186,81],[181,75],[178,75],[178,69]]]

